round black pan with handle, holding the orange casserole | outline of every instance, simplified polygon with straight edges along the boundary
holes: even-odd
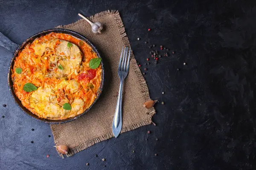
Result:
[[[97,99],[99,98],[100,94],[102,93],[102,88],[103,88],[103,83],[104,83],[104,67],[103,67],[103,62],[101,62],[102,65],[102,75],[101,75],[101,84],[99,86],[99,90],[97,92],[97,97],[94,100],[93,104],[90,106],[90,108],[88,108],[86,111],[84,111],[83,113],[75,116],[75,117],[71,117],[68,119],[63,119],[63,120],[50,120],[50,119],[41,119],[39,118],[37,115],[33,114],[32,112],[30,112],[28,109],[26,109],[20,102],[20,99],[17,98],[17,96],[14,93],[13,90],[13,82],[12,82],[12,67],[14,64],[14,60],[15,57],[17,57],[17,55],[19,54],[20,51],[23,50],[23,48],[26,46],[27,43],[29,42],[33,42],[36,38],[44,36],[46,34],[49,34],[51,32],[55,32],[55,33],[64,33],[64,34],[70,34],[80,40],[83,40],[84,42],[86,42],[88,45],[90,45],[90,47],[93,49],[93,51],[97,54],[98,57],[101,57],[101,55],[99,54],[99,52],[97,51],[97,49],[95,48],[95,46],[89,41],[87,40],[87,38],[85,38],[84,36],[82,36],[81,34],[75,32],[75,31],[71,31],[71,30],[67,30],[67,29],[60,29],[60,28],[55,28],[55,29],[49,29],[49,30],[45,30],[45,31],[41,31],[38,32],[37,34],[33,35],[32,37],[29,37],[25,42],[23,42],[21,45],[17,45],[14,42],[12,42],[11,40],[9,40],[9,38],[7,38],[6,36],[4,36],[2,33],[0,33],[0,45],[3,46],[4,48],[12,51],[13,53],[13,57],[11,60],[11,63],[9,65],[9,70],[8,70],[8,86],[9,86],[9,91],[12,95],[13,100],[15,101],[15,104],[24,112],[26,113],[26,115],[28,115],[29,117],[36,119],[40,122],[44,122],[44,123],[49,123],[49,124],[60,124],[60,123],[66,123],[66,122],[70,122],[72,120],[75,120],[77,118],[79,118],[80,116],[84,115],[86,112],[88,112],[90,110],[90,108],[93,106],[93,104],[97,101]]]

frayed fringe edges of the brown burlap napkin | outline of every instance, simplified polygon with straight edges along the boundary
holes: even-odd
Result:
[[[94,16],[89,17],[89,19],[94,21],[98,17],[104,17],[104,16],[107,16],[107,15],[113,15],[113,18],[116,21],[116,26],[119,29],[119,34],[122,37],[123,45],[126,46],[126,47],[130,46],[130,42],[129,42],[127,34],[125,32],[125,27],[124,27],[124,25],[122,23],[122,19],[121,19],[120,15],[119,15],[119,11],[116,11],[116,10],[102,11],[102,12],[100,12],[98,14],[95,14]],[[64,28],[64,29],[66,29],[66,28],[69,28],[70,26],[79,25],[82,21],[83,21],[83,19],[78,20],[75,23],[71,23],[71,24],[65,25],[65,26],[58,26],[56,28]],[[140,72],[140,68],[137,65],[136,59],[134,58],[134,54],[133,54],[132,51],[131,51],[130,66],[133,68],[133,70],[134,70],[134,72],[135,72],[135,74],[137,76],[137,80],[140,83],[140,90],[143,93],[143,97],[144,97],[145,101],[150,100],[149,92],[148,92],[148,86],[147,86],[147,84],[145,82],[145,79],[144,79],[143,75]],[[152,120],[151,120],[152,116],[155,113],[156,113],[156,111],[155,111],[154,108],[148,109],[148,113],[147,113],[148,114],[148,119],[140,121],[140,122],[134,122],[134,124],[132,124],[132,125],[127,125],[125,127],[122,127],[121,133],[130,131],[130,130],[134,130],[134,129],[136,129],[138,127],[141,127],[141,126],[144,126],[144,125],[151,124],[152,123]],[[52,134],[53,134],[53,137],[54,137],[54,140],[55,140],[55,136],[56,135],[55,135],[55,131],[54,130],[52,130]],[[75,153],[78,153],[81,150],[84,150],[87,147],[92,146],[93,144],[96,144],[98,142],[110,139],[112,137],[113,137],[113,133],[112,132],[104,134],[104,135],[101,135],[101,136],[97,136],[96,138],[90,139],[90,140],[88,140],[88,141],[86,141],[86,142],[84,142],[82,144],[79,144],[76,147],[70,148],[67,156],[72,156]]]

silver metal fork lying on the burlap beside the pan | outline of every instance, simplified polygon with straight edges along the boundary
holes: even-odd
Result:
[[[128,60],[127,54],[129,50]],[[115,137],[117,137],[122,129],[122,86],[125,77],[129,71],[129,62],[130,62],[130,55],[131,55],[131,48],[123,47],[120,61],[118,65],[118,76],[120,78],[120,87],[119,87],[119,94],[116,102],[116,111],[113,119],[112,130]]]

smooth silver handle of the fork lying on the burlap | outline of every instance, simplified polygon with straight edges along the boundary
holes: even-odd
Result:
[[[119,86],[119,94],[116,102],[116,111],[114,114],[112,130],[115,137],[117,137],[122,129],[122,87],[124,79],[121,79]]]

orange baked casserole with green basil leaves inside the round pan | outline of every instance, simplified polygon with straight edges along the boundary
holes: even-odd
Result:
[[[12,68],[22,105],[43,119],[67,119],[93,104],[102,65],[92,48],[69,34],[50,33],[28,43]]]

